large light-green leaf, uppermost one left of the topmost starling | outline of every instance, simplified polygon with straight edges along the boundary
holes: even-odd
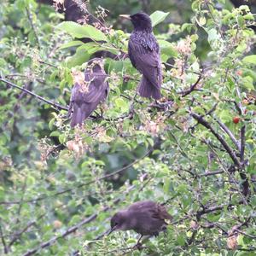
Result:
[[[73,38],[90,38],[96,41],[108,41],[107,37],[100,30],[90,25],[82,26],[73,21],[63,21],[56,28],[67,32]]]

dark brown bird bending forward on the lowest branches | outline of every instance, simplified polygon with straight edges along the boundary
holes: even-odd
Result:
[[[137,201],[113,215],[110,233],[113,230],[135,230],[142,236],[158,236],[160,231],[166,230],[166,219],[172,219],[166,207],[154,201]]]

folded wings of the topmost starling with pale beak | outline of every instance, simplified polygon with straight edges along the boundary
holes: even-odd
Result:
[[[128,49],[132,65],[143,73],[151,84],[160,88],[162,78],[159,47],[150,48],[129,40]]]

